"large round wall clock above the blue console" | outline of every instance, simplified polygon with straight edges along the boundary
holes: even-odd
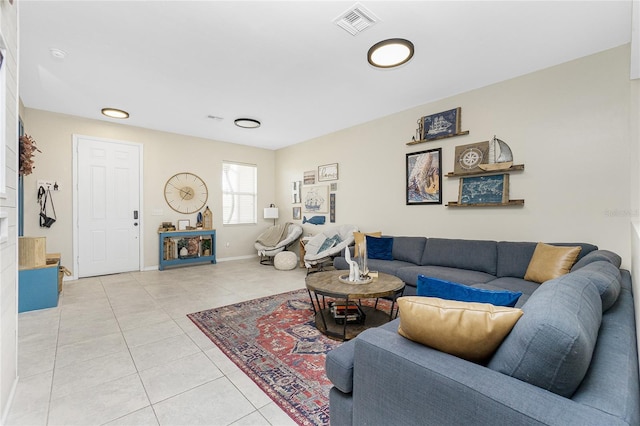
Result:
[[[207,185],[193,173],[177,173],[164,186],[164,199],[178,213],[195,213],[204,207],[208,198]]]

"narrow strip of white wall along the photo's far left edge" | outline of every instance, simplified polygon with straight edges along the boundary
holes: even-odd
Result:
[[[0,196],[0,216],[8,221],[8,240],[0,243],[0,424],[8,413],[17,383],[17,176],[18,176],[18,31],[17,5],[0,2],[0,31],[6,43],[7,67],[6,113],[4,132],[6,141],[3,171],[5,194]]]

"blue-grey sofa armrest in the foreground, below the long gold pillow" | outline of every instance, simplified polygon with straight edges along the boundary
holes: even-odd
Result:
[[[625,424],[389,329],[354,340],[353,424]]]

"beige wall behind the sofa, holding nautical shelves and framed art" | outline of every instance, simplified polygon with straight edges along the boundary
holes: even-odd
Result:
[[[624,46],[279,150],[279,206],[291,218],[290,183],[337,162],[337,224],[389,235],[591,242],[619,253],[629,267],[629,223],[638,215],[638,197],[630,197],[637,161],[630,85]],[[455,107],[462,107],[469,135],[406,145],[419,117]],[[510,176],[510,198],[525,199],[524,207],[445,207],[458,196],[458,179],[446,177],[443,205],[405,205],[405,154],[441,147],[444,176],[453,171],[457,145],[494,134],[525,165]]]

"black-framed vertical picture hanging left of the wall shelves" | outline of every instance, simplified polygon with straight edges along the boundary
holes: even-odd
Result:
[[[407,205],[442,204],[442,148],[407,154]]]

